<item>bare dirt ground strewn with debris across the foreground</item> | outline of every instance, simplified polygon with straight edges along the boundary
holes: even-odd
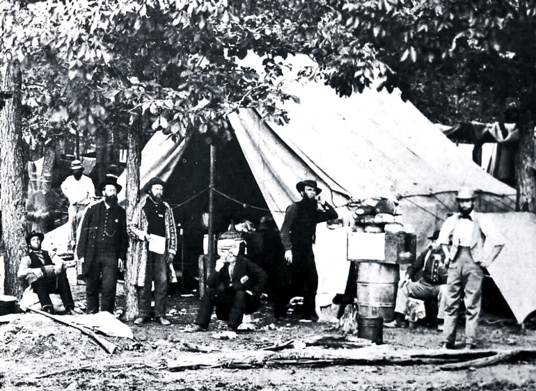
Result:
[[[74,287],[77,303],[84,303],[84,287]],[[122,296],[118,297],[120,308]],[[536,390],[536,361],[494,365],[454,372],[436,365],[313,365],[260,369],[205,368],[171,372],[168,360],[184,360],[192,353],[185,342],[233,351],[255,350],[285,340],[333,332],[334,324],[277,323],[269,303],[263,303],[253,333],[239,333],[234,340],[216,340],[223,329],[212,321],[210,331],[187,334],[181,330],[195,317],[198,298],[173,294],[168,301],[172,326],[150,322],[132,327],[135,341],[107,337],[119,346],[109,355],[78,330],[38,314],[0,325],[1,390]],[[536,327],[525,330],[513,319],[481,322],[482,348],[534,348]],[[460,337],[463,337],[460,336]],[[384,344],[393,349],[436,349],[441,334],[434,328],[384,328]]]

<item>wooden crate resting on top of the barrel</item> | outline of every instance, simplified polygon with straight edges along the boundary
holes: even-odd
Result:
[[[411,264],[416,259],[416,252],[415,234],[348,233],[347,260],[349,261]]]

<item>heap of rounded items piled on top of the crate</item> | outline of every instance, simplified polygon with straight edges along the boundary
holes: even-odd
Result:
[[[404,232],[402,210],[398,202],[388,198],[366,198],[353,202],[352,232],[397,234]]]

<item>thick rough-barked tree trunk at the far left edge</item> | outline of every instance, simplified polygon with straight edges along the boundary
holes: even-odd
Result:
[[[2,239],[4,244],[4,281],[6,294],[20,296],[17,269],[26,255],[26,193],[24,191],[24,157],[20,124],[21,75],[10,64],[0,67],[0,91],[4,98],[0,109],[0,183],[2,191]]]

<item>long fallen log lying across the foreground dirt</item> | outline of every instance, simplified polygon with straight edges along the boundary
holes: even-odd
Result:
[[[168,360],[170,371],[223,367],[249,369],[258,367],[282,367],[308,365],[443,365],[445,369],[465,369],[469,367],[494,365],[514,358],[536,358],[536,350],[496,351],[479,349],[458,350],[393,350],[386,345],[373,345],[361,349],[292,349],[287,351],[234,351],[207,353],[203,356],[183,356],[181,360]],[[455,367],[459,364],[459,367]],[[450,367],[448,366],[450,365]]]

